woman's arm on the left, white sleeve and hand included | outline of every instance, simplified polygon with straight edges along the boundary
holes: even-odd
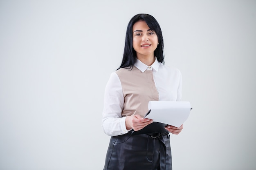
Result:
[[[116,73],[110,75],[104,95],[102,127],[109,136],[123,135],[129,130],[140,130],[153,120],[143,119],[139,115],[122,117],[124,95],[120,79]]]

